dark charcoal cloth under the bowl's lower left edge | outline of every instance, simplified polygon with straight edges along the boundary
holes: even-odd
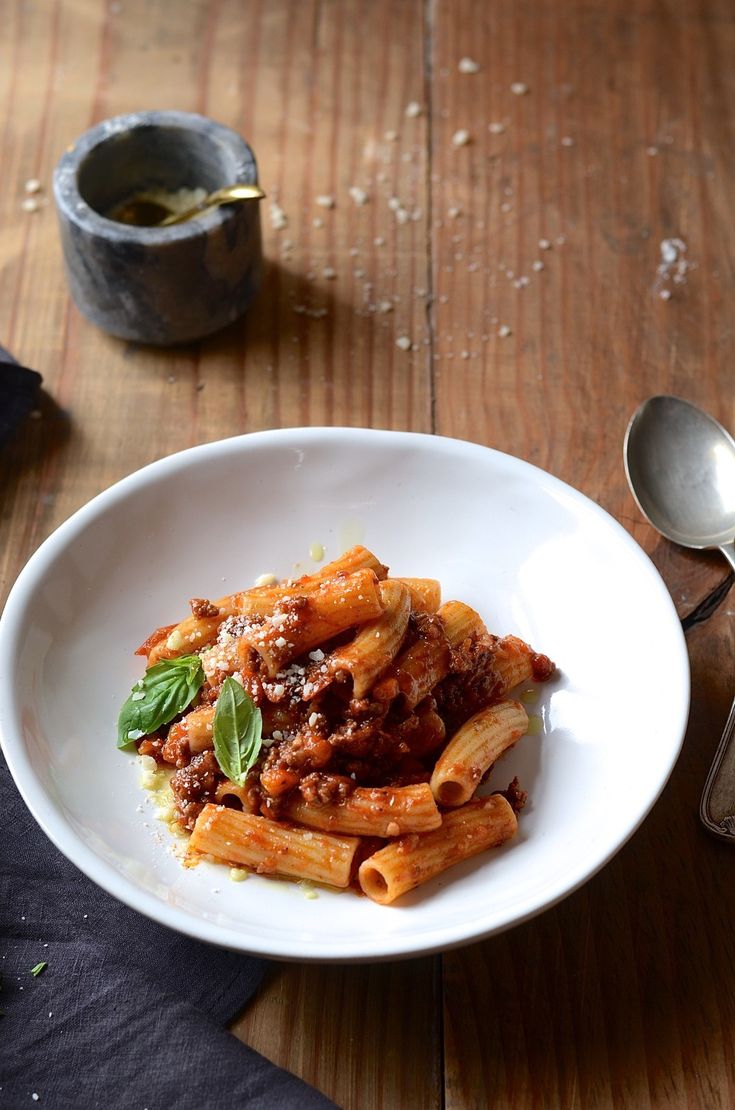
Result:
[[[323,1110],[224,1028],[266,962],[172,932],[78,871],[0,755],[0,1108]]]

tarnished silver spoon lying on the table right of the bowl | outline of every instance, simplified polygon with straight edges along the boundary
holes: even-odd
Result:
[[[625,433],[625,474],[643,515],[667,539],[719,548],[735,569],[735,440],[679,397],[651,397]],[[699,817],[735,842],[735,700],[704,785]]]

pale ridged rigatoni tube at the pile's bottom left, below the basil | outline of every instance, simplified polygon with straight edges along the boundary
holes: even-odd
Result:
[[[261,875],[346,887],[359,845],[356,837],[299,829],[210,804],[197,818],[189,850],[252,867]]]

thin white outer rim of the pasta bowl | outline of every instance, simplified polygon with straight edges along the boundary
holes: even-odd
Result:
[[[643,824],[666,786],[676,760],[678,759],[688,720],[691,674],[686,642],[684,633],[681,630],[681,625],[678,625],[681,633],[678,637],[679,673],[676,676],[676,682],[673,684],[673,690],[679,698],[679,735],[677,743],[672,744],[671,746],[666,765],[664,766],[662,764],[662,767],[657,770],[656,789],[653,796],[648,797],[643,811],[637,814],[634,820],[626,824],[622,834],[618,831],[614,842],[608,844],[605,850],[595,860],[594,867],[590,868],[588,862],[586,861],[582,867],[577,865],[577,874],[574,875],[571,881],[566,881],[564,884],[563,889],[560,889],[551,896],[546,896],[542,899],[538,897],[538,891],[534,891],[534,895],[526,899],[528,905],[524,909],[521,909],[517,915],[514,915],[511,920],[502,922],[501,925],[491,926],[484,930],[471,929],[469,932],[465,932],[456,926],[450,927],[446,925],[424,929],[421,934],[420,948],[416,948],[415,942],[412,942],[412,935],[410,932],[406,935],[389,935],[383,938],[380,950],[376,949],[375,951],[370,952],[364,951],[364,940],[361,941],[360,945],[352,947],[349,942],[346,942],[344,945],[344,950],[340,951],[338,955],[334,955],[328,945],[319,940],[309,941],[309,944],[303,945],[302,949],[299,951],[295,950],[296,946],[294,942],[289,942],[281,949],[278,947],[278,944],[274,947],[272,944],[269,944],[261,938],[246,938],[246,942],[243,942],[245,938],[243,938],[240,934],[234,932],[231,928],[223,927],[217,922],[208,921],[202,918],[195,918],[188,915],[185,911],[177,909],[175,907],[172,908],[168,906],[152,892],[141,888],[128,876],[118,871],[111,864],[95,855],[92,849],[89,848],[88,845],[73,831],[73,829],[70,828],[69,823],[64,820],[49,803],[46,790],[38,780],[30,764],[23,740],[20,736],[8,737],[6,735],[9,727],[8,705],[12,704],[12,690],[6,686],[8,697],[2,696],[3,686],[6,685],[4,676],[11,673],[11,663],[17,654],[14,649],[17,648],[19,639],[22,635],[23,612],[30,597],[29,587],[36,584],[37,579],[42,579],[44,569],[48,568],[48,566],[56,559],[57,555],[66,547],[69,541],[72,541],[77,534],[83,532],[88,522],[94,519],[98,515],[108,512],[118,501],[127,497],[128,494],[131,491],[134,491],[138,486],[145,485],[153,478],[163,477],[170,472],[175,472],[178,468],[194,462],[198,457],[218,457],[220,455],[228,454],[229,452],[236,452],[239,448],[245,447],[246,445],[255,448],[259,442],[278,443],[278,441],[281,441],[284,446],[291,447],[292,450],[299,450],[299,445],[303,443],[304,440],[320,441],[326,437],[328,440],[339,442],[342,438],[354,440],[355,436],[364,440],[365,442],[369,440],[379,442],[381,438],[391,440],[395,443],[402,441],[410,444],[413,442],[416,445],[425,445],[431,442],[434,448],[439,447],[439,450],[449,452],[460,450],[461,452],[467,453],[469,455],[475,455],[476,457],[486,456],[487,453],[491,453],[502,460],[511,460],[514,465],[518,465],[522,470],[527,470],[530,473],[541,477],[543,482],[552,488],[555,488],[558,492],[564,492],[567,496],[572,494],[575,500],[584,502],[585,508],[588,512],[602,518],[608,526],[612,526],[631,552],[633,552],[644,564],[647,564],[648,571],[653,572],[652,586],[657,585],[660,596],[664,603],[669,606],[671,613],[674,617],[676,617],[676,624],[678,625],[678,617],[676,616],[671,594],[668,593],[655,565],[651,561],[650,556],[635,542],[633,536],[618,521],[615,519],[615,517],[607,513],[606,509],[592,501],[592,498],[590,498],[586,494],[583,494],[581,491],[568,485],[568,483],[563,482],[548,471],[544,471],[533,463],[526,462],[517,456],[510,455],[506,452],[497,451],[493,447],[487,447],[471,441],[459,440],[450,436],[435,435],[425,432],[350,427],[348,425],[294,426],[251,432],[199,444],[197,446],[188,447],[154,460],[153,462],[148,463],[139,470],[120,478],[105,490],[102,490],[87,504],[78,508],[40,544],[38,549],[28,559],[27,564],[18,575],[18,578],[13,583],[6,602],[4,609],[0,615],[0,748],[2,748],[2,751],[4,753],[8,767],[16,781],[16,786],[31,815],[56,847],[93,882],[104,889],[108,894],[115,897],[118,900],[124,902],[152,920],[163,924],[174,931],[181,932],[193,939],[283,961],[298,960],[302,962],[349,963],[382,962],[409,957],[417,958],[481,941],[490,936],[514,928],[515,926],[536,917],[541,912],[545,912],[546,909],[552,908],[564,900],[567,896],[572,895],[588,879],[596,875],[604,866],[606,866],[606,864],[610,862],[610,860],[621,850],[625,842]],[[449,938],[446,936],[447,931],[452,934]]]

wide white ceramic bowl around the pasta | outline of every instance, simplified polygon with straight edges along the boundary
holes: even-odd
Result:
[[[500,765],[530,794],[518,836],[391,907],[352,892],[185,869],[115,748],[132,655],[189,597],[313,567],[364,543],[395,574],[440,578],[497,633],[561,668],[543,722]],[[115,897],[182,932],[290,959],[384,959],[489,936],[553,905],[613,856],[677,757],[688,663],[671,598],[597,505],[507,455],[453,440],[291,428],[161,460],[67,521],[0,622],[0,735],[33,816]],[[142,806],[142,813],[140,808]]]

